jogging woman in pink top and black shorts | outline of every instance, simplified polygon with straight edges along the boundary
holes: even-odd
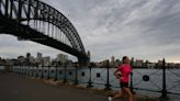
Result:
[[[127,56],[124,56],[122,60],[123,60],[123,64],[120,65],[119,68],[114,72],[114,76],[120,80],[121,90],[113,98],[109,97],[109,101],[113,101],[116,98],[122,98],[125,94],[127,97],[126,101],[133,101],[133,94],[128,87],[130,75],[132,72],[131,61]],[[121,72],[121,75],[119,72]]]

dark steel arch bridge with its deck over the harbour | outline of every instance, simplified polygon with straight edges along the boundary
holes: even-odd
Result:
[[[45,22],[48,23],[46,27]],[[31,26],[32,23],[34,26]],[[44,34],[45,29],[52,35]],[[77,56],[79,61],[89,59],[71,22],[63,13],[38,0],[0,0],[0,33],[64,50]],[[57,38],[59,33],[64,34],[67,43]]]

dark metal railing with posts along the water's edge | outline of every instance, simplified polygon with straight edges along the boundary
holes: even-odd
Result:
[[[115,68],[110,68],[109,65],[105,68],[94,68],[91,66],[86,68],[68,66],[16,66],[11,69],[11,71],[22,76],[54,79],[55,81],[61,80],[74,85],[83,85],[88,88],[104,88],[105,90],[119,88],[119,81],[113,76],[114,70]],[[178,87],[180,86],[180,75],[176,70],[167,69],[165,60],[161,69],[133,69],[131,77],[130,87],[132,91],[145,90],[158,92],[161,93],[161,99],[168,99],[167,94],[180,96],[180,88]],[[173,82],[167,83],[167,81]]]

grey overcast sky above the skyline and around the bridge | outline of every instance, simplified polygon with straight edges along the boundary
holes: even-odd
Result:
[[[180,61],[180,0],[42,0],[67,16],[91,60],[126,55]],[[56,56],[57,49],[0,35],[0,56],[26,52]]]

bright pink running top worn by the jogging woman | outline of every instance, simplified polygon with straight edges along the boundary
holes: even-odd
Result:
[[[132,66],[131,65],[121,65],[121,66],[119,66],[117,69],[121,71],[120,81],[128,83],[130,74],[132,72]]]

